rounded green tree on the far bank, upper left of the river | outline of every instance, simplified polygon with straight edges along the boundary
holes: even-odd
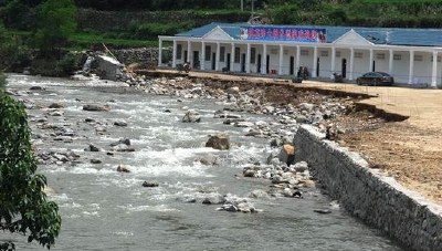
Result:
[[[39,8],[36,45],[44,55],[60,51],[76,30],[74,0],[48,0]]]

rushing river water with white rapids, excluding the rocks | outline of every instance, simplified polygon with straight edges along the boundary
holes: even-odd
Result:
[[[36,104],[65,105],[64,116],[48,116],[48,122],[75,132],[73,143],[53,140],[50,130],[36,128],[39,119],[50,109],[29,109],[31,126],[41,138],[34,140],[39,151],[72,150],[78,163],[40,165],[39,171],[55,190],[51,200],[60,205],[62,231],[53,250],[402,250],[371,229],[351,218],[343,209],[317,215],[314,209],[328,209],[330,199],[312,189],[304,199],[251,199],[259,213],[217,211],[219,206],[206,206],[207,192],[248,197],[255,190],[267,190],[270,181],[235,177],[242,163],[263,161],[270,151],[269,140],[245,137],[243,128],[223,125],[213,118],[222,108],[213,101],[183,100],[125,92],[122,87],[98,87],[103,82],[67,81],[36,76],[9,75],[9,90],[29,91],[33,85],[46,91],[29,91],[20,96]],[[107,83],[107,85],[118,85]],[[22,92],[22,94],[24,94]],[[107,113],[82,109],[84,104],[105,104]],[[183,124],[182,106],[197,109],[202,123]],[[171,113],[165,113],[165,109]],[[272,121],[269,116],[249,116],[251,121]],[[93,118],[106,128],[96,135]],[[113,123],[124,119],[127,127]],[[234,144],[230,151],[203,147],[208,135],[228,133]],[[122,137],[131,139],[134,153],[107,156],[109,144]],[[84,151],[90,143],[104,151]],[[220,165],[204,166],[202,156],[218,156]],[[91,158],[101,159],[98,165]],[[116,171],[126,165],[131,172]],[[144,188],[144,180],[159,182],[157,188]],[[196,203],[180,198],[194,197]],[[18,250],[42,250],[25,238],[0,233],[0,240],[18,241]]]

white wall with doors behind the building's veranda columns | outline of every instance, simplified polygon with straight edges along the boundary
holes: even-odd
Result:
[[[187,41],[177,41],[178,44],[181,45],[181,53],[176,59],[176,64],[183,64],[187,59],[185,59],[185,52],[188,51],[188,42]],[[217,53],[217,42],[206,42],[206,45],[211,48],[210,61],[206,61],[202,57],[202,50],[201,42],[191,42],[191,50],[190,52],[190,62],[193,63],[197,59],[193,59],[193,52],[199,52],[199,61],[200,64],[204,63],[206,71],[212,71],[212,61],[213,53]],[[220,46],[224,46],[224,56],[223,61],[219,62],[219,71],[222,71],[223,67],[228,66],[228,54],[232,52],[232,43],[231,42],[220,42]],[[235,48],[240,48],[240,62],[234,62],[232,71],[233,72],[242,72],[242,64],[243,64],[243,54],[248,52],[246,44],[234,44]],[[270,64],[269,64],[269,73],[272,74],[272,70],[276,75],[280,74],[280,45],[267,45],[267,54],[263,54],[263,45],[262,44],[251,44],[251,48],[255,49],[255,63],[251,63],[250,71],[252,74],[256,74],[259,72],[259,55],[261,55],[261,73],[266,65],[266,55],[270,56]],[[291,73],[291,56],[293,56],[293,73],[296,75],[298,66],[306,66],[311,76],[314,75],[314,48],[306,45],[301,45],[301,55],[299,55],[299,65],[296,65],[296,53],[297,49],[296,45],[283,46],[283,64],[282,64],[282,75],[290,75]],[[178,50],[177,50],[178,51]],[[221,51],[221,50],[220,50]],[[354,80],[358,76],[367,73],[370,71],[370,51],[369,49],[355,49],[355,56],[354,56]],[[407,50],[393,50],[393,66],[392,66],[392,76],[394,77],[397,83],[408,83],[410,77],[410,52]],[[231,54],[232,61],[233,54]],[[317,56],[319,61],[319,77],[330,77],[332,75],[332,49],[330,48],[318,48],[317,49]],[[414,71],[413,71],[413,83],[428,83],[431,84],[432,82],[432,52],[424,52],[414,49]],[[442,56],[442,53],[439,53],[439,57]],[[222,57],[222,56],[220,56]],[[346,60],[346,79],[350,76],[350,49],[346,48],[337,48],[336,49],[336,57],[335,57],[335,72],[343,74],[343,60]],[[373,61],[375,61],[375,71],[379,72],[389,72],[389,60],[390,60],[390,52],[388,49],[382,50],[373,50]],[[246,63],[246,59],[245,62]],[[193,64],[192,64],[193,65]],[[245,66],[246,69],[246,66]],[[438,84],[442,83],[442,63],[438,62],[438,76],[436,82]]]

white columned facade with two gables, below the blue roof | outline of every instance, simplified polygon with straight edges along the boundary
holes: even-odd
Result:
[[[302,43],[235,40],[217,27],[202,38],[159,36],[158,62],[162,62],[162,41],[173,42],[173,60],[158,66],[189,62],[201,71],[262,75],[296,75],[299,66],[306,66],[311,77],[339,73],[348,81],[379,71],[391,74],[397,83],[442,84],[442,48],[375,44],[354,30],[333,43]]]

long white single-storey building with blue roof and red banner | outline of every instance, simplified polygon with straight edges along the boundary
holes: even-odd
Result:
[[[173,42],[162,62],[162,41]],[[396,82],[442,84],[442,30],[210,23],[159,36],[158,66],[190,63],[201,71],[311,77],[340,74],[348,81],[386,72]],[[436,60],[433,60],[436,59]]]

